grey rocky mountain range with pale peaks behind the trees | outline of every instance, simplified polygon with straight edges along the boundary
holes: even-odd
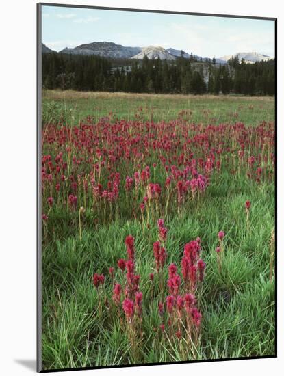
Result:
[[[45,44],[42,43],[42,53],[55,52]],[[186,51],[178,49],[164,49],[161,46],[146,46],[146,47],[131,47],[122,46],[121,44],[116,44],[114,42],[92,42],[86,44],[80,44],[75,48],[66,47],[59,53],[70,53],[72,55],[99,55],[103,57],[120,58],[120,59],[143,59],[144,55],[147,55],[149,59],[159,59],[162,60],[175,60],[177,57],[183,57],[185,59],[190,59],[194,57],[195,59],[206,61],[209,57],[201,57],[194,54],[189,54]],[[220,58],[216,58],[217,64],[226,64],[232,56],[238,55],[240,61],[244,59],[246,63],[260,62],[261,60],[267,61],[272,59],[272,57],[267,55],[262,55],[257,52],[239,52],[233,55],[225,55]]]

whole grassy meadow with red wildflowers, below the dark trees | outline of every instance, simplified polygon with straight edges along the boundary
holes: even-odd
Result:
[[[44,91],[44,369],[274,355],[274,98]]]

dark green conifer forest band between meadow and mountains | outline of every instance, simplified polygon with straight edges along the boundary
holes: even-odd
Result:
[[[247,64],[233,57],[197,62],[112,60],[97,55],[42,54],[42,87],[62,90],[181,94],[274,95],[274,60]]]

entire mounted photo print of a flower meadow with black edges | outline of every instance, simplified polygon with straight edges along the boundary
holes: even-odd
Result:
[[[276,356],[275,40],[38,4],[38,371]]]

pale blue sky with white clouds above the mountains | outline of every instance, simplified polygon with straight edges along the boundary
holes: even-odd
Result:
[[[162,46],[202,57],[274,57],[274,21],[42,6],[42,42],[61,51],[90,42]]]

